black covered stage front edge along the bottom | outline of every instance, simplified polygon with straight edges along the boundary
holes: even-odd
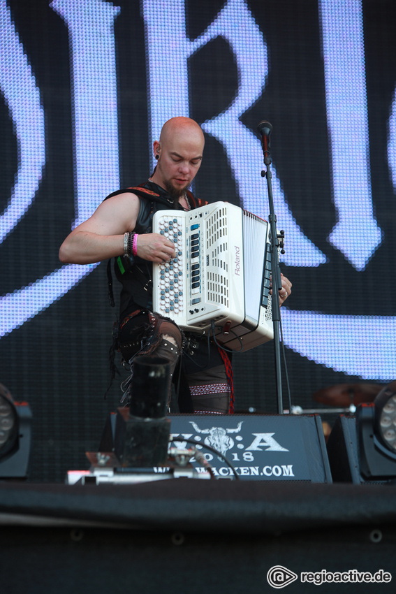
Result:
[[[354,581],[320,592],[395,592],[393,485],[3,482],[0,521],[1,593],[270,592],[276,565],[298,575],[288,593],[316,591],[300,574],[323,571]],[[393,581],[356,581],[380,570]]]

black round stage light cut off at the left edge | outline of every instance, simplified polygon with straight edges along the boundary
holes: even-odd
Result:
[[[30,457],[31,412],[0,384],[0,479],[27,476]]]

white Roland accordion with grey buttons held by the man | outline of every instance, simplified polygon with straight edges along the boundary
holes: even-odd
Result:
[[[184,331],[213,330],[219,345],[247,351],[272,340],[270,226],[239,206],[159,210],[153,231],[176,257],[153,265],[153,308]]]

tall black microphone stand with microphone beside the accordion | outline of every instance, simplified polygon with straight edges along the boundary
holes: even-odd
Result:
[[[261,171],[261,176],[267,178],[268,202],[270,204],[270,251],[271,251],[271,275],[272,275],[272,324],[274,326],[274,354],[275,354],[275,378],[277,384],[277,405],[278,414],[284,414],[284,404],[282,396],[281,382],[281,341],[280,341],[280,323],[281,310],[279,305],[279,291],[281,284],[281,270],[279,268],[278,248],[283,247],[279,244],[277,233],[277,215],[274,213],[274,201],[272,198],[272,172],[270,165],[272,163],[270,154],[270,133],[272,125],[270,122],[260,122],[258,131],[263,138],[263,154],[266,171]],[[281,235],[282,236],[282,235]]]

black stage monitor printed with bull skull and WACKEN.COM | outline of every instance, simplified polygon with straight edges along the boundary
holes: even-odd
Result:
[[[235,472],[242,480],[332,482],[322,423],[316,414],[173,414],[169,419],[173,445],[186,448],[190,445],[186,440],[192,440],[216,477],[230,479]],[[116,414],[110,414],[99,451],[114,451],[115,420]],[[191,463],[198,472],[204,471],[195,460]],[[165,472],[166,468],[154,470]]]

